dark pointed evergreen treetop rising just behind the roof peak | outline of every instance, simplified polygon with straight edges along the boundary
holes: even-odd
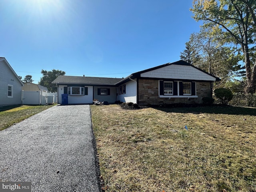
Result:
[[[190,42],[186,42],[186,49],[183,52],[180,52],[180,59],[188,62],[189,64],[193,64],[198,61],[198,55]]]

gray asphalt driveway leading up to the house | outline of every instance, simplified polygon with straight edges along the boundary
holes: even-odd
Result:
[[[54,106],[0,132],[0,182],[32,192],[99,192],[89,105]]]

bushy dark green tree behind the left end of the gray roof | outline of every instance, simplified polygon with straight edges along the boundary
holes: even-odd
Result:
[[[57,92],[57,86],[55,84],[52,84],[52,82],[60,75],[65,75],[66,72],[61,70],[55,70],[47,71],[43,70],[41,71],[43,76],[40,78],[39,85],[45,86],[48,88],[48,91],[50,92]]]

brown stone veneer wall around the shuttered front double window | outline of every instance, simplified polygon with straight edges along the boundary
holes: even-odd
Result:
[[[174,103],[202,103],[203,97],[212,97],[211,82],[196,82],[198,98],[159,98],[158,80],[138,80],[138,103],[140,105],[174,104]],[[188,96],[189,97],[189,96]]]

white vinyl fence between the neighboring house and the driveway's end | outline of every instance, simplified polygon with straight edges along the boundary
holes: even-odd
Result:
[[[24,105],[48,105],[57,102],[57,93],[45,91],[22,91],[22,104]]]

